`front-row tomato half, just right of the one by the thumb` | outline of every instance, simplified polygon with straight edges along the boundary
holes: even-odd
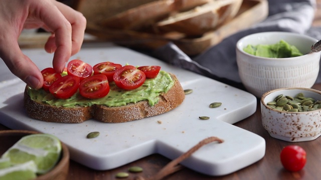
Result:
[[[71,97],[78,89],[80,79],[77,76],[65,75],[57,79],[49,91],[57,98],[66,99]]]

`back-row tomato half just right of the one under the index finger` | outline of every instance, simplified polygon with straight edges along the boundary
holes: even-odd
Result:
[[[113,62],[101,62],[94,65],[92,68],[94,74],[105,74],[107,76],[108,81],[113,81],[114,73],[120,67],[122,67],[121,64],[116,64]]]

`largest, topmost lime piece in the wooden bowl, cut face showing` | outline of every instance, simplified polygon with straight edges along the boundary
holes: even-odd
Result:
[[[37,165],[37,173],[42,174],[56,165],[60,154],[60,140],[54,135],[39,133],[22,137],[3,157],[9,157],[12,164],[33,160]]]

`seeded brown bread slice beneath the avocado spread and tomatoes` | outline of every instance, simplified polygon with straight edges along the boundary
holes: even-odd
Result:
[[[141,119],[168,112],[183,102],[185,93],[182,85],[174,74],[170,74],[174,85],[167,93],[160,94],[159,101],[153,106],[150,106],[147,100],[115,107],[105,105],[51,106],[32,100],[28,95],[27,86],[24,93],[24,107],[28,116],[50,122],[80,123],[93,118],[103,122],[117,123]]]

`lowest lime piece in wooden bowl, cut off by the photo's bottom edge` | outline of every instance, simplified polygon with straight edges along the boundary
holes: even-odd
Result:
[[[29,180],[37,177],[37,165],[34,161],[0,169],[0,180]]]

